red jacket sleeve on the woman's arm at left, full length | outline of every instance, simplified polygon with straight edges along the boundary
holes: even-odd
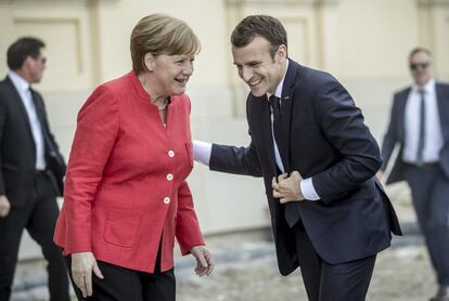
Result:
[[[104,87],[89,96],[78,114],[64,189],[67,237],[72,252],[91,250],[92,201],[116,141],[119,110]]]

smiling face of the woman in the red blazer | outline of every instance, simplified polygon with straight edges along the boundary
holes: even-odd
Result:
[[[151,86],[158,96],[179,95],[185,92],[185,84],[193,73],[194,54],[167,55],[152,57],[150,71]]]

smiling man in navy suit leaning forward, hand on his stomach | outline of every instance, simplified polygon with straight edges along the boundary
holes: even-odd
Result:
[[[300,266],[309,300],[364,300],[377,252],[400,234],[375,179],[379,146],[346,89],[287,56],[283,25],[245,17],[231,36],[249,87],[247,147],[194,142],[211,170],[264,176],[282,275]]]

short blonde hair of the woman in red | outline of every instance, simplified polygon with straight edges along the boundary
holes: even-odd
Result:
[[[146,70],[144,55],[197,54],[201,43],[185,22],[164,15],[151,14],[141,18],[131,32],[132,69],[136,74]]]

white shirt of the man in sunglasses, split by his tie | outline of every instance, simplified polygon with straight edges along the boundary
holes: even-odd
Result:
[[[411,88],[406,105],[406,130],[402,160],[409,163],[416,162],[416,152],[420,139],[421,95],[419,89],[420,87],[416,84]],[[439,120],[435,79],[431,79],[421,89],[424,90],[425,101],[425,142],[423,161],[436,162],[439,160],[439,150],[442,147],[444,139]]]

